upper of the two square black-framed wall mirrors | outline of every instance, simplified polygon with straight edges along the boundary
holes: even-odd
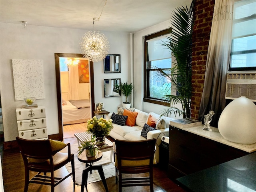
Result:
[[[104,73],[121,72],[121,55],[108,54],[104,59]]]

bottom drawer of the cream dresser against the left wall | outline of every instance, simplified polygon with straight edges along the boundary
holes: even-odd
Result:
[[[19,137],[23,139],[40,139],[48,137],[47,128],[19,131]]]

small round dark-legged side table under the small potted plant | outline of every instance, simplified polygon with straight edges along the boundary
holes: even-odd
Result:
[[[108,186],[106,183],[102,165],[95,165],[95,166],[92,165],[92,163],[97,162],[102,158],[102,152],[98,151],[95,156],[87,157],[86,152],[84,151],[79,156],[77,156],[77,158],[80,162],[86,163],[85,169],[83,170],[83,175],[82,175],[81,192],[84,192],[84,186],[87,190],[88,172],[90,171],[90,174],[92,174],[92,170],[98,170],[102,183],[105,187],[105,190],[106,192],[108,192]]]

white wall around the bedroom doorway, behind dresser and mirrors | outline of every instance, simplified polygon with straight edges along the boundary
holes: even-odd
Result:
[[[45,98],[35,104],[46,107],[48,134],[58,133],[58,109],[54,53],[80,53],[80,38],[86,30],[0,23],[0,91],[4,122],[4,140],[18,136],[16,108],[24,105],[15,101],[12,59],[43,60]],[[103,61],[94,63],[95,102],[104,102],[106,110],[114,111],[122,97],[104,98],[103,79],[130,76],[130,34],[103,32],[110,42],[109,54],[121,54],[121,73],[104,74]]]

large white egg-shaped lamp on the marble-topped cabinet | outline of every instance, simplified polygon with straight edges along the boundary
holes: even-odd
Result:
[[[240,144],[256,142],[256,105],[246,97],[230,102],[218,122],[220,134],[228,141]]]

